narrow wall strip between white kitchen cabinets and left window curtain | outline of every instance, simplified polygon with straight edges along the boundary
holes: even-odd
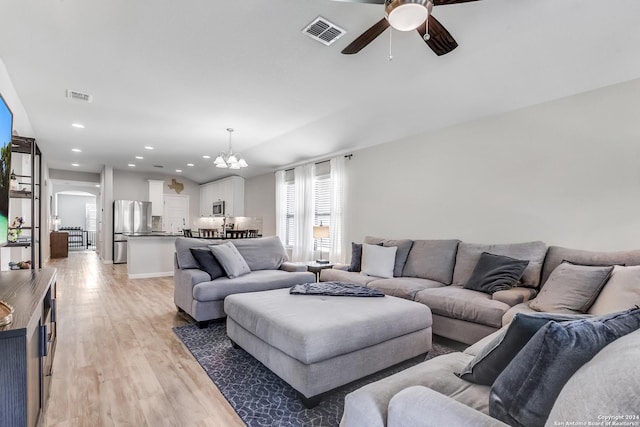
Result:
[[[276,176],[274,173],[247,179],[244,184],[244,214],[262,218],[262,235],[276,234]]]

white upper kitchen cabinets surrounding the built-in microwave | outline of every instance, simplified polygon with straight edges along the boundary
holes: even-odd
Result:
[[[213,202],[225,202],[225,215],[244,216],[244,178],[230,176],[200,185],[200,215],[211,216]]]

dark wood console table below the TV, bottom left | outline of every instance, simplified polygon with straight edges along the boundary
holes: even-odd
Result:
[[[0,424],[39,424],[56,349],[56,270],[0,272],[0,300],[14,308],[0,326]]]

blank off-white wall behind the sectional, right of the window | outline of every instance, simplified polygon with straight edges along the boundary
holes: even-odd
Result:
[[[354,153],[367,234],[640,247],[640,80]]]

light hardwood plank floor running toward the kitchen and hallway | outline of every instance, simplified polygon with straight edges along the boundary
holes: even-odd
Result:
[[[58,269],[58,344],[44,426],[244,426],[171,328],[173,278],[129,280],[93,252]]]

